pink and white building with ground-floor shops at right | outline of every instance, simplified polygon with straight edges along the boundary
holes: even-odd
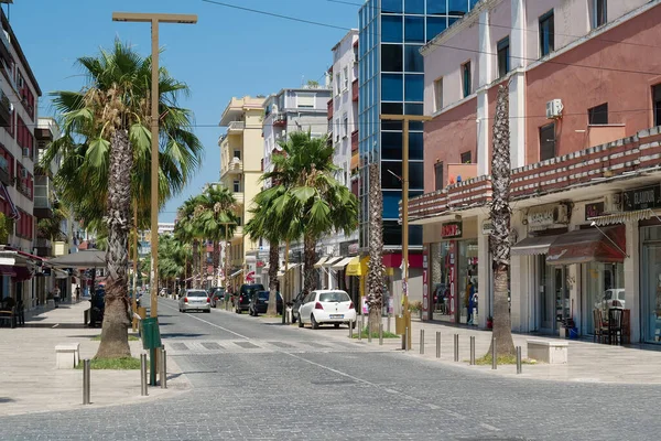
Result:
[[[512,330],[590,335],[622,309],[632,342],[661,341],[660,19],[659,1],[485,0],[422,50],[425,319],[466,322],[469,290],[475,322],[492,314],[490,146],[509,84]]]

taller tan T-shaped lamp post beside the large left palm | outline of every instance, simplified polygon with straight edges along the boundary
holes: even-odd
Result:
[[[149,289],[150,315],[158,316],[159,308],[159,23],[197,23],[195,14],[112,12],[112,21],[151,23],[152,87],[151,87],[151,271]]]

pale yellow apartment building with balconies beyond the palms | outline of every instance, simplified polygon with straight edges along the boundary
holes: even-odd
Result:
[[[250,219],[252,200],[261,191],[263,160],[262,118],[264,97],[231,98],[220,117],[227,132],[218,139],[220,147],[220,184],[237,200],[239,225],[229,249],[231,284],[239,287],[254,278],[256,258],[248,252],[259,244],[243,236],[243,225]]]

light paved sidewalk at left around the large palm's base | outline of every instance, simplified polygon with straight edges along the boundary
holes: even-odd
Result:
[[[100,342],[91,337],[101,330],[82,326],[83,311],[87,308],[86,300],[65,303],[57,309],[25,314],[26,325],[39,323],[40,327],[0,327],[0,417],[143,402],[189,389],[173,358],[167,359],[167,389],[149,387],[148,397],[140,396],[139,369],[95,369],[90,373],[91,405],[83,406],[83,370],[56,369],[55,346],[78,342],[80,358],[94,357]],[[143,352],[140,341],[129,344],[133,356]]]

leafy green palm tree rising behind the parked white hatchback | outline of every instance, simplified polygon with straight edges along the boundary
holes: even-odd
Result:
[[[334,150],[327,144],[327,137],[294,132],[280,147],[282,153],[272,157],[273,171],[264,173],[263,179],[284,190],[273,201],[273,209],[282,222],[297,219],[305,256],[303,291],[307,293],[316,288],[318,239],[333,230],[350,235],[358,225],[358,201],[334,178],[339,169],[333,163]]]

